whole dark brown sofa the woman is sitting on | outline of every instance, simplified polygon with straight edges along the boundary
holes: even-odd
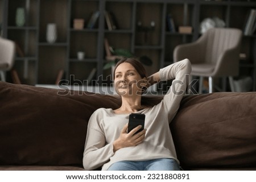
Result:
[[[90,115],[121,101],[0,82],[0,103],[0,170],[83,170]],[[184,96],[170,128],[184,170],[256,170],[256,92]]]

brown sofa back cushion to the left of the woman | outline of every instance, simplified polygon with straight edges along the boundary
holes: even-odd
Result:
[[[90,115],[114,96],[0,82],[0,164],[78,165]]]

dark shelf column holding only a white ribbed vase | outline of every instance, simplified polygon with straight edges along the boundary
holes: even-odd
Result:
[[[38,84],[54,84],[60,70],[66,69],[68,57],[68,0],[43,0],[39,9]],[[57,12],[57,13],[54,13]],[[46,40],[48,23],[55,23],[55,43]]]

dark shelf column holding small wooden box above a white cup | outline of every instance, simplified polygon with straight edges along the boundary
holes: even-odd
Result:
[[[70,84],[87,84],[84,81],[88,78],[90,71],[94,68],[100,69],[101,65],[98,50],[100,50],[100,26],[99,18],[93,28],[86,28],[92,14],[100,11],[100,1],[71,1],[71,18],[69,20],[69,60],[68,75]],[[74,29],[74,19],[84,19],[84,29]],[[85,52],[84,60],[77,59],[77,52]],[[96,79],[96,75],[94,76]],[[90,83],[89,83],[90,84]]]

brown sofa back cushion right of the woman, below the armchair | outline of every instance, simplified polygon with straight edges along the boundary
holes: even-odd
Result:
[[[256,92],[185,96],[171,123],[185,169],[256,167]]]

